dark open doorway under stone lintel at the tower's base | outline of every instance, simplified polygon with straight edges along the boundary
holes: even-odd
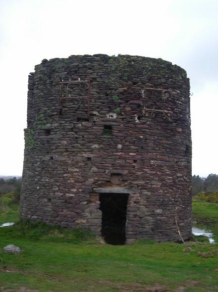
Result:
[[[126,208],[128,194],[108,194],[99,196],[102,211],[102,236],[109,244],[125,244]]]

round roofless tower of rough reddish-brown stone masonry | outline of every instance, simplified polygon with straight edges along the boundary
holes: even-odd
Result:
[[[191,237],[189,79],[162,59],[44,59],[29,75],[21,219],[102,232],[128,195],[126,243]],[[177,225],[178,227],[177,227]]]

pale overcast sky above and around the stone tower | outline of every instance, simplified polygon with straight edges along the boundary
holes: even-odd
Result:
[[[218,174],[217,0],[0,0],[0,175],[21,175],[28,73],[72,54],[163,58],[191,82],[193,174]]]

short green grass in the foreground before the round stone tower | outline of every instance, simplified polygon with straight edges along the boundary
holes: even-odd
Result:
[[[1,212],[0,222],[17,221],[18,212],[17,217],[9,213]],[[77,232],[29,223],[0,228],[0,265],[3,258],[3,265],[11,271],[0,271],[0,288],[146,292],[159,285],[162,291],[171,292],[183,287],[185,290],[181,291],[185,292],[218,291],[218,244],[141,240],[115,246],[102,244],[89,233]],[[15,244],[24,251],[5,253],[2,247],[7,244]]]

